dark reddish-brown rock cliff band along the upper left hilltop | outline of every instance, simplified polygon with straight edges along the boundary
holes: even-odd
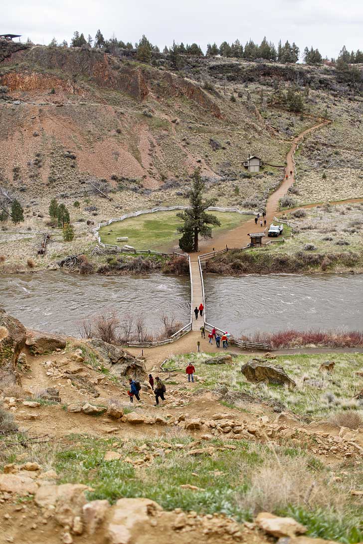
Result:
[[[14,51],[5,48],[0,61],[4,65],[22,63],[21,71],[16,69],[16,76],[13,72],[1,78],[2,83],[8,85],[10,90],[42,88],[45,79],[47,84],[54,86],[53,79],[57,78],[58,83],[57,76],[61,75],[61,78],[65,78],[65,90],[70,88],[75,92],[77,87],[81,87],[79,80],[87,78],[100,88],[125,92],[139,102],[151,91],[157,91],[158,95],[165,97],[186,96],[217,118],[221,117],[217,104],[193,82],[151,66],[112,57],[101,51],[78,47],[34,46],[19,50],[15,48]],[[39,69],[52,73],[39,75]],[[76,94],[81,92],[77,91]]]

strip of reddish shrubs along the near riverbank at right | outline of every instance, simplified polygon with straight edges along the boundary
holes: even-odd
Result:
[[[272,348],[360,348],[363,347],[363,332],[361,331],[296,331],[285,330],[278,332],[257,331],[253,335],[243,336],[242,340],[270,344]]]

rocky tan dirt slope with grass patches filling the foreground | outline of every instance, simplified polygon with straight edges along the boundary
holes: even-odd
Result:
[[[276,470],[280,479],[291,467],[300,473],[302,504],[317,517],[317,505],[331,502],[319,498],[327,483],[351,510],[361,505],[361,428],[309,423],[243,392],[237,408],[225,400],[227,387],[210,390],[197,377],[187,388],[175,372],[163,375],[167,400],[155,407],[146,381],[160,370],[152,357],[29,331],[4,312],[0,358],[0,542],[319,542],[306,533],[341,540],[328,514],[328,529],[318,532],[297,511],[266,511],[268,500],[251,490],[258,481],[266,486],[267,462],[272,480]],[[226,354],[207,362],[227,368],[233,360]],[[245,366],[251,380],[257,372],[275,384],[288,379],[273,359]],[[128,375],[141,382],[139,405],[128,401]],[[302,462],[312,473],[302,472]],[[263,499],[273,494],[261,489]],[[350,541],[359,541],[358,531]]]

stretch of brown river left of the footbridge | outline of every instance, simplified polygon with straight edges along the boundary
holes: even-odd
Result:
[[[32,329],[79,336],[80,320],[107,310],[118,316],[143,313],[149,331],[162,329],[160,318],[190,319],[189,277],[82,276],[62,271],[0,274],[0,304]]]

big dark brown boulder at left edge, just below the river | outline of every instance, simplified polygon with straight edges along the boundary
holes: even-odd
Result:
[[[26,342],[26,328],[0,308],[0,381],[20,384],[16,364]]]

